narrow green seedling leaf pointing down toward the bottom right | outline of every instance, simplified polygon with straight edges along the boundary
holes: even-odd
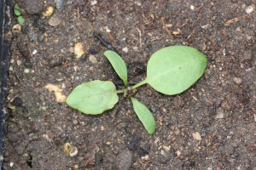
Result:
[[[143,126],[146,128],[148,133],[152,134],[155,131],[154,116],[148,110],[148,108],[140,103],[137,99],[131,97],[131,102],[135,113],[137,114],[139,120],[143,122]]]

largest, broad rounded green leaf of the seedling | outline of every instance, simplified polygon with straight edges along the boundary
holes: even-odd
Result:
[[[162,94],[180,94],[192,86],[204,73],[207,57],[195,48],[172,46],[161,48],[148,60],[147,78]]]

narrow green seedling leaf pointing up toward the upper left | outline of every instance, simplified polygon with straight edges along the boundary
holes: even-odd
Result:
[[[106,51],[104,55],[108,58],[109,62],[113,66],[114,71],[116,71],[116,73],[125,83],[125,87],[127,87],[127,67],[125,65],[124,59],[122,59],[119,54],[116,54],[111,50]]]

